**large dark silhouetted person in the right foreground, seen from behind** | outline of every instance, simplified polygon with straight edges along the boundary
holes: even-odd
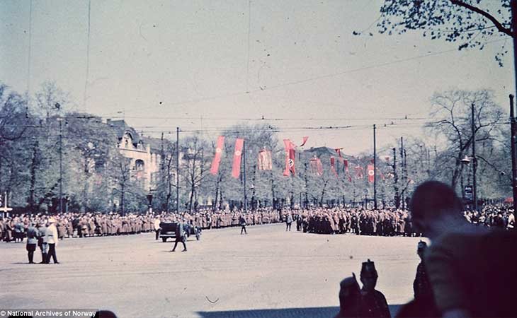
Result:
[[[517,317],[517,233],[468,223],[442,182],[420,184],[410,207],[417,232],[432,242],[424,261],[442,317]]]

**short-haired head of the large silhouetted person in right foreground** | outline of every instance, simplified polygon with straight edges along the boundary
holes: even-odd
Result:
[[[433,239],[451,228],[467,223],[463,204],[453,188],[438,181],[417,187],[409,204],[411,222],[418,232]]]

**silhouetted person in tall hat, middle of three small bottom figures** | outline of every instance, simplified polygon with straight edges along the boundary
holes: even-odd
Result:
[[[375,290],[377,277],[375,263],[370,259],[363,262],[360,270],[360,281],[363,283],[363,288],[360,290],[359,317],[391,318],[386,298],[380,291]]]

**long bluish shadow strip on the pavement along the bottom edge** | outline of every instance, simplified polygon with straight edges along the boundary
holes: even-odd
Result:
[[[401,305],[390,305],[392,317]],[[332,318],[339,307],[282,308],[266,310],[229,310],[224,312],[198,312],[201,318]]]

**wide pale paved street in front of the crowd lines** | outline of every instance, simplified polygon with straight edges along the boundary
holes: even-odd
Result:
[[[282,224],[239,232],[205,230],[184,253],[181,245],[169,252],[172,243],[154,233],[69,239],[57,247],[59,265],[25,264],[25,244],[1,243],[0,307],[102,308],[122,318],[331,317],[339,281],[359,276],[367,258],[390,305],[411,299],[419,238],[312,235]]]

